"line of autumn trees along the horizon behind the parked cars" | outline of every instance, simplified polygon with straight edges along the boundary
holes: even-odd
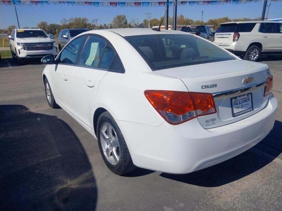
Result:
[[[150,26],[159,26],[160,22],[162,21],[163,17],[159,19],[153,18],[150,19]],[[209,19],[207,22],[202,22],[201,20],[192,20],[189,18],[185,18],[184,15],[180,14],[177,16],[177,25],[213,25],[214,29],[217,29],[221,23],[230,22],[230,21],[249,21],[249,20],[260,20],[260,18],[249,19],[249,18],[240,18],[240,19],[230,19],[228,17],[222,17],[217,19]],[[148,19],[144,19],[143,25],[145,27],[149,25]],[[62,29],[71,29],[71,28],[82,28],[82,29],[113,29],[113,28],[133,28],[139,26],[138,19],[132,19],[130,22],[127,21],[125,15],[117,15],[113,18],[112,22],[109,24],[100,24],[97,25],[93,21],[89,21],[87,18],[70,18],[70,19],[62,19],[61,24],[51,23],[48,24],[46,21],[41,21],[37,24],[37,27],[33,27],[31,29],[43,29],[48,34],[53,34],[55,36],[58,35],[60,30]],[[173,19],[169,17],[169,24],[172,25]],[[164,22],[162,22],[162,25]],[[11,33],[16,26],[8,26],[6,29],[0,29],[1,33]],[[23,27],[23,29],[29,27]]]

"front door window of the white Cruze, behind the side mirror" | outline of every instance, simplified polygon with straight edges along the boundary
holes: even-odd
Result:
[[[72,40],[61,52],[59,57],[59,64],[74,64],[78,51],[83,44],[85,36],[80,36]]]

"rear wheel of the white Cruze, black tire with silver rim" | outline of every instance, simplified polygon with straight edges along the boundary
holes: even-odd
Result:
[[[97,139],[102,158],[114,174],[123,175],[136,168],[123,134],[109,112],[98,118]]]

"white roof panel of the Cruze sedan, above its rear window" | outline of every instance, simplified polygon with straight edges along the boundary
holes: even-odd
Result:
[[[152,35],[152,34],[160,34],[160,33],[161,34],[170,34],[170,33],[183,34],[184,33],[184,32],[173,31],[173,30],[156,31],[156,30],[146,29],[146,28],[122,28],[122,29],[100,29],[100,30],[114,32],[116,34],[119,34],[120,36]],[[91,31],[87,33],[91,33]]]

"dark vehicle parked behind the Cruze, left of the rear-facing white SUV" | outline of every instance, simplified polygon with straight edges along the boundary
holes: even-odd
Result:
[[[182,32],[188,32],[191,34],[196,34],[202,38],[205,38],[211,42],[213,42],[213,34],[209,26],[201,25],[201,26],[183,26],[181,29]]]

